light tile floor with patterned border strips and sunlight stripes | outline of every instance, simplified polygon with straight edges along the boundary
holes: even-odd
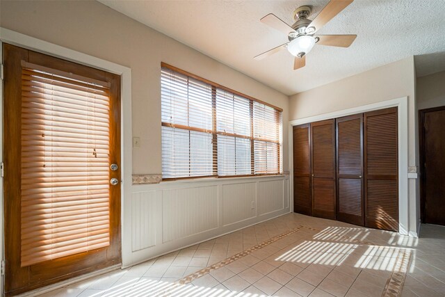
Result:
[[[287,214],[41,296],[445,296],[445,227]]]

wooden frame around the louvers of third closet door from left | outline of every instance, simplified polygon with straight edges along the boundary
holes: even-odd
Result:
[[[340,207],[340,186],[339,186],[339,182],[341,178],[344,179],[357,179],[357,175],[341,175],[340,173],[340,166],[339,166],[339,123],[340,122],[347,122],[349,120],[355,120],[355,119],[359,119],[360,120],[360,155],[361,155],[361,160],[360,160],[360,175],[358,176],[358,179],[360,179],[361,181],[361,186],[360,186],[360,195],[361,195],[361,204],[362,204],[362,218],[361,220],[358,222],[357,220],[357,216],[353,216],[353,215],[348,215],[348,214],[340,214],[339,211],[339,207]],[[337,220],[341,220],[342,222],[346,222],[346,223],[353,223],[355,225],[360,225],[360,226],[364,226],[364,122],[363,122],[363,113],[356,113],[354,115],[347,115],[345,117],[341,117],[341,118],[337,118],[335,121],[335,137],[336,137],[336,141],[335,141],[335,146],[336,146],[336,152],[335,152],[335,163],[336,163],[336,183],[337,183],[337,193],[336,193],[336,214],[337,214]],[[340,177],[341,176],[341,177]]]

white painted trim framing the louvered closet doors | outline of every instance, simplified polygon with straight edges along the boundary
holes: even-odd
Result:
[[[307,124],[309,122],[318,122],[320,120],[328,120],[332,118],[341,118],[346,115],[353,115],[355,113],[364,113],[366,111],[375,111],[378,109],[385,109],[388,107],[397,107],[398,109],[398,193],[399,193],[399,233],[403,235],[410,235],[417,237],[417,230],[410,230],[410,220],[414,220],[413,214],[415,209],[410,212],[408,208],[408,97],[400,97],[390,99],[373,104],[366,104],[363,106],[353,107],[350,109],[343,109],[341,111],[334,111],[332,113],[323,113],[320,115],[310,116],[308,118],[300,118],[298,120],[289,121],[289,168],[293,168],[293,154],[292,154],[292,127],[296,125]],[[289,172],[291,180],[293,180],[293,172]],[[291,183],[291,195],[293,197],[293,185]],[[293,206],[291,211],[293,211]],[[416,222],[414,222],[416,223]],[[414,225],[414,224],[413,224]]]

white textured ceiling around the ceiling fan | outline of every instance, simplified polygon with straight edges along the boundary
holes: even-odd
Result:
[[[316,45],[300,70],[293,70],[293,56],[286,50],[253,59],[287,41],[259,19],[274,13],[293,24],[293,10],[303,5],[312,6],[313,19],[327,0],[99,1],[286,95],[407,56],[425,55],[416,67],[434,65],[437,56],[427,54],[445,51],[445,0],[355,0],[318,31],[357,34],[353,45]]]

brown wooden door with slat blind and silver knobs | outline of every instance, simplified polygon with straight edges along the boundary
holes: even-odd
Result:
[[[120,77],[7,44],[3,65],[10,296],[120,264]]]

